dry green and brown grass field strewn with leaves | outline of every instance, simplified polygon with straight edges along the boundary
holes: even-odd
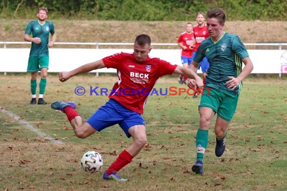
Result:
[[[49,104],[75,101],[77,111],[86,120],[108,97],[89,96],[87,92],[77,96],[75,88],[112,88],[116,80],[115,76],[88,74],[61,83],[56,74],[49,74],[44,99]],[[222,157],[214,154],[214,121],[209,130],[204,175],[191,171],[196,159],[199,98],[192,99],[187,94],[151,96],[143,114],[148,144],[119,171],[129,179],[122,183],[102,179],[104,170],[132,142],[118,126],[79,139],[64,114],[50,109],[50,105],[29,105],[29,74],[1,74],[0,189],[287,190],[286,85],[286,80],[272,78],[244,81]],[[176,76],[162,78],[155,87],[170,86],[186,87],[177,83]],[[19,120],[45,135],[35,133]],[[80,165],[88,150],[98,151],[104,159],[102,170],[95,174],[86,173]]]

